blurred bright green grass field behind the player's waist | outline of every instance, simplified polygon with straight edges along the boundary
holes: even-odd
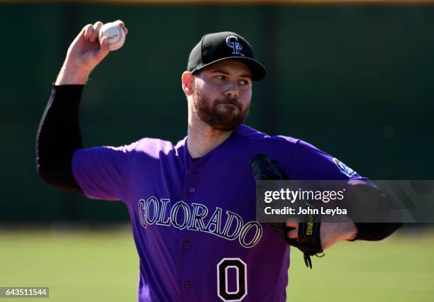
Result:
[[[426,231],[342,242],[314,257],[312,270],[293,250],[287,301],[433,301],[433,255],[434,233]],[[0,286],[49,286],[50,301],[135,301],[137,284],[129,228],[0,229]]]

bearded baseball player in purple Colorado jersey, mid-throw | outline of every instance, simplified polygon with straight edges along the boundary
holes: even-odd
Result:
[[[116,21],[126,33],[122,21]],[[241,35],[209,33],[182,74],[187,136],[172,144],[143,138],[84,149],[79,105],[91,70],[109,54],[103,23],[80,31],[67,51],[38,129],[38,173],[88,198],[123,201],[140,257],[138,301],[286,301],[289,245],[255,220],[250,160],[263,152],[290,179],[341,179],[372,187],[313,145],[244,125],[252,82],[265,77]],[[298,221],[286,239],[298,240]],[[379,240],[399,224],[321,224],[321,249],[341,240]]]

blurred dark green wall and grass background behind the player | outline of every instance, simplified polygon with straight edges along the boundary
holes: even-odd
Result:
[[[84,91],[85,147],[182,139],[189,50],[233,30],[268,69],[247,124],[307,140],[371,179],[433,179],[430,4],[0,3],[0,286],[51,286],[54,301],[135,299],[130,231],[113,226],[128,228],[126,207],[53,189],[35,170],[36,130],[69,43],[87,23],[116,19],[129,34]],[[289,301],[432,301],[430,232],[337,246],[313,272],[297,255]]]

